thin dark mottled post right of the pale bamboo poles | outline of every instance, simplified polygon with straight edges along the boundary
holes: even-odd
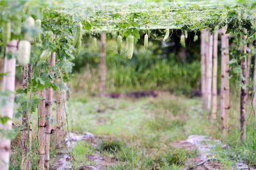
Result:
[[[246,41],[246,36],[243,36],[243,41]],[[247,45],[243,46],[243,54],[246,54]],[[247,63],[246,58],[241,59],[241,99],[240,99],[240,125],[241,125],[241,136],[240,140],[243,142],[246,138],[246,98],[247,98],[247,82],[246,82],[246,73],[247,73]]]

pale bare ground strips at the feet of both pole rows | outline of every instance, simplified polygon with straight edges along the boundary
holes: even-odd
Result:
[[[53,169],[57,170],[65,170],[65,169],[73,169],[71,160],[72,158],[68,155],[67,150],[71,150],[74,146],[76,146],[77,141],[84,140],[88,143],[91,143],[93,147],[97,148],[103,139],[106,139],[106,136],[95,136],[90,132],[86,132],[83,135],[77,135],[75,133],[68,133],[67,138],[65,139],[67,144],[67,149],[63,150],[56,157],[56,163],[53,166]],[[225,167],[218,160],[218,153],[214,153],[213,149],[216,145],[221,146],[224,150],[227,148],[226,145],[221,143],[221,141],[216,139],[211,139],[207,136],[199,136],[192,135],[189,136],[185,141],[178,141],[175,143],[169,144],[175,148],[184,148],[186,150],[193,150],[196,148],[198,150],[198,156],[188,159],[185,166],[186,170],[195,169],[195,170],[224,170]],[[106,157],[102,155],[97,149],[92,155],[88,155],[88,160],[94,162],[92,165],[81,166],[79,169],[92,169],[92,170],[100,170],[106,169],[107,166],[111,164],[115,164],[116,160],[112,158]],[[232,169],[236,170],[247,170],[253,169],[249,168],[248,165],[243,162],[237,162],[233,165]]]

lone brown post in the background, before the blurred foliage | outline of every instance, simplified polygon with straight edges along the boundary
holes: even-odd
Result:
[[[106,33],[101,34],[101,59],[100,59],[100,97],[106,96]]]

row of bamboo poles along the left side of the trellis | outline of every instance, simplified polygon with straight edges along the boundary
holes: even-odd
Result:
[[[6,53],[15,53],[18,48],[19,41],[17,39],[12,40],[6,45]],[[49,57],[50,70],[52,73],[52,67],[54,67],[56,62],[56,53],[52,52],[51,57]],[[7,56],[4,58],[4,73],[8,73],[3,77],[3,91],[10,91],[10,101],[3,106],[2,117],[9,117],[10,120],[6,124],[0,124],[0,129],[3,131],[8,131],[12,129],[12,118],[13,118],[13,104],[15,98],[15,67],[16,59],[8,59]],[[23,80],[22,88],[26,90],[28,84],[31,80],[31,74],[33,73],[33,66],[28,64],[28,66],[23,67]],[[57,78],[56,81],[60,81]],[[30,92],[27,91],[27,95],[30,96]],[[52,88],[44,89],[40,91],[42,101],[38,106],[38,169],[49,169],[50,160],[50,141],[51,134],[54,132],[54,143],[56,149],[61,147],[61,136],[65,134],[65,122],[66,122],[66,91],[58,90],[55,94],[56,100],[56,125],[51,127],[52,119],[52,104],[53,100],[53,90]],[[22,125],[24,129],[22,130],[22,160],[20,169],[31,169],[31,140],[32,140],[32,128],[31,128],[31,113],[26,112],[22,115]],[[8,138],[0,138],[0,169],[8,170],[10,162],[10,149],[11,141]]]

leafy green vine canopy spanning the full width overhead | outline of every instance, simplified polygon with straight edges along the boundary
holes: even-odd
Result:
[[[20,16],[29,15],[42,19],[43,27],[56,33],[82,22],[84,32],[118,31],[126,37],[133,34],[135,40],[140,37],[140,31],[150,29],[214,31],[224,25],[228,25],[228,32],[255,32],[256,29],[253,0],[0,1],[0,16],[4,16],[0,21],[2,18],[20,20]]]

